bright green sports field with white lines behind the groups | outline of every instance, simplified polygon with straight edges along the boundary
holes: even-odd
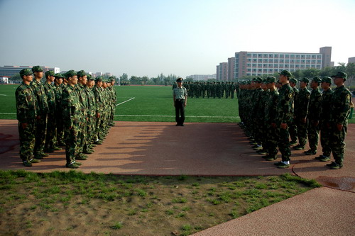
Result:
[[[16,119],[15,91],[18,84],[0,85],[0,119]],[[115,86],[114,120],[175,122],[171,86]],[[187,99],[185,122],[239,122],[234,99]]]

